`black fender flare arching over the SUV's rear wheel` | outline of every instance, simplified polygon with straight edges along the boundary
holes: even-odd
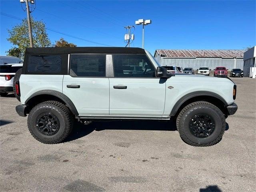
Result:
[[[68,98],[63,93],[55,91],[55,90],[41,90],[41,91],[35,92],[34,94],[32,94],[25,101],[25,104],[27,104],[30,99],[32,99],[32,98],[34,98],[35,96],[38,96],[38,95],[52,95],[52,96],[56,96],[56,97],[58,97],[59,99],[61,99],[62,101],[64,101],[66,103],[66,105],[68,106],[68,108],[70,109],[70,111],[74,115],[78,115],[78,111],[76,110],[76,107],[75,107],[74,103],[70,100],[70,98]]]

